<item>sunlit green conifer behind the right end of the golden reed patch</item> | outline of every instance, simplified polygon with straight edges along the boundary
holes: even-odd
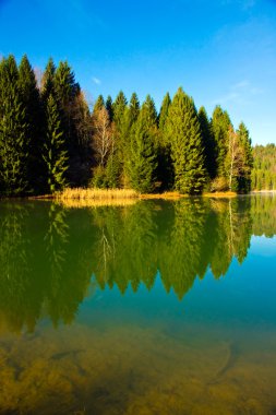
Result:
[[[151,96],[142,105],[131,137],[128,175],[133,189],[154,190],[156,162],[157,114]]]

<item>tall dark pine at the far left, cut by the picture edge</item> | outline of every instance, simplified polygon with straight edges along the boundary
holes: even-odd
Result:
[[[29,128],[13,56],[2,60],[0,72],[0,182],[15,195],[28,190]]]

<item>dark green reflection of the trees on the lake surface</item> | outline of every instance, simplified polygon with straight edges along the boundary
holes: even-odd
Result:
[[[140,284],[151,289],[159,272],[181,299],[208,269],[219,278],[233,258],[242,263],[252,234],[276,233],[275,204],[273,197],[83,210],[1,202],[1,320],[31,332],[46,316],[70,323],[92,275],[123,294]]]

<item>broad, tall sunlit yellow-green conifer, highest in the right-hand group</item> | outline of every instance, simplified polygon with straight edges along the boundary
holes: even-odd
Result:
[[[201,126],[194,103],[182,88],[169,107],[166,134],[171,145],[176,189],[182,193],[201,193],[206,182]]]

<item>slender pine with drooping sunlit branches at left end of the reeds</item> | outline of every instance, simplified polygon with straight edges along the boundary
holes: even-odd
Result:
[[[52,95],[47,100],[46,116],[47,132],[43,147],[43,159],[47,169],[47,190],[52,193],[65,186],[65,171],[68,169],[68,153],[64,150],[61,118]]]

